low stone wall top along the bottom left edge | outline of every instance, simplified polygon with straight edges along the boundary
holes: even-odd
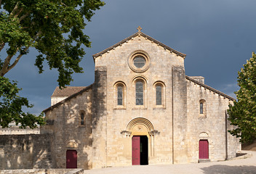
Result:
[[[21,169],[21,170],[0,170],[0,174],[82,174],[84,169]]]

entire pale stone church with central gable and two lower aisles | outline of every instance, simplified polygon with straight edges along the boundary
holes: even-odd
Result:
[[[137,33],[93,55],[95,82],[55,89],[45,109],[57,167],[85,169],[225,160],[233,98],[185,75],[185,54]]]

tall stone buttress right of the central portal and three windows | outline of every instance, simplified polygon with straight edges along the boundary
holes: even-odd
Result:
[[[174,163],[188,162],[188,118],[187,83],[184,67],[172,67],[172,104],[173,104],[173,159]]]

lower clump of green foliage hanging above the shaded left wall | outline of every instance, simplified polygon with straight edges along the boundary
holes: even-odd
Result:
[[[22,111],[22,107],[33,107],[28,104],[28,99],[18,96],[20,88],[17,83],[11,82],[8,78],[0,76],[0,125],[7,128],[9,123],[20,124],[20,128],[36,128],[37,125],[44,125],[44,114],[38,117]]]

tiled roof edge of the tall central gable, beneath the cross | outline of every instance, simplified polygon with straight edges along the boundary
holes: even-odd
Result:
[[[110,51],[111,49],[116,48],[116,46],[120,46],[122,43],[124,43],[126,41],[129,41],[132,38],[135,38],[136,36],[143,36],[144,38],[147,38],[149,41],[153,41],[154,43],[159,44],[160,46],[164,47],[164,49],[168,49],[169,51],[174,52],[175,54],[177,54],[180,57],[185,58],[185,56],[186,56],[186,54],[183,54],[179,51],[176,51],[175,49],[170,48],[169,46],[165,45],[164,43],[156,41],[156,39],[151,38],[151,36],[148,36],[145,33],[142,33],[141,31],[138,31],[137,33],[133,34],[132,36],[129,36],[128,38],[124,38],[124,40],[122,40],[122,41],[119,41],[119,43],[116,43],[113,46],[108,47],[108,49],[104,49],[103,51],[100,51],[97,54],[93,54],[92,55],[93,59],[95,59],[96,57],[99,57],[100,55]]]

